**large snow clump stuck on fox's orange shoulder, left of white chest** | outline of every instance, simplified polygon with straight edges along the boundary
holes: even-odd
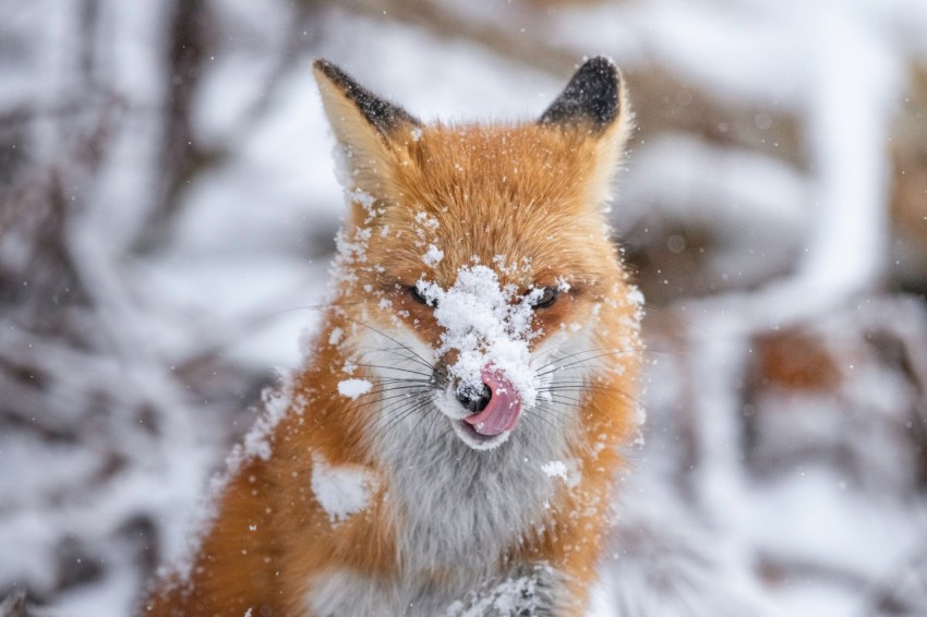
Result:
[[[363,468],[333,467],[318,455],[312,457],[312,493],[332,524],[366,508],[375,485],[376,480]]]

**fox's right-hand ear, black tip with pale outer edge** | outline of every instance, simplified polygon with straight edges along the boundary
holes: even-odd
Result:
[[[630,134],[631,117],[618,68],[603,56],[587,60],[541,114],[541,125],[574,132],[591,146],[589,202],[611,197],[612,178]]]

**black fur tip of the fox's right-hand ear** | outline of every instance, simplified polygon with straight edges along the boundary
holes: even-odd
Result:
[[[611,59],[590,58],[570,78],[564,92],[541,116],[542,123],[591,122],[598,129],[611,124],[621,112],[622,75]]]

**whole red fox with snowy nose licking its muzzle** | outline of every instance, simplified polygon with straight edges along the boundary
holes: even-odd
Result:
[[[146,615],[581,615],[637,431],[604,58],[537,121],[425,125],[314,63],[350,211],[309,360]]]

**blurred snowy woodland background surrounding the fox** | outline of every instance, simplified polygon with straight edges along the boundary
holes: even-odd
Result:
[[[592,615],[927,615],[927,2],[0,0],[0,597],[120,616],[318,315],[324,56],[637,118],[648,425]]]

